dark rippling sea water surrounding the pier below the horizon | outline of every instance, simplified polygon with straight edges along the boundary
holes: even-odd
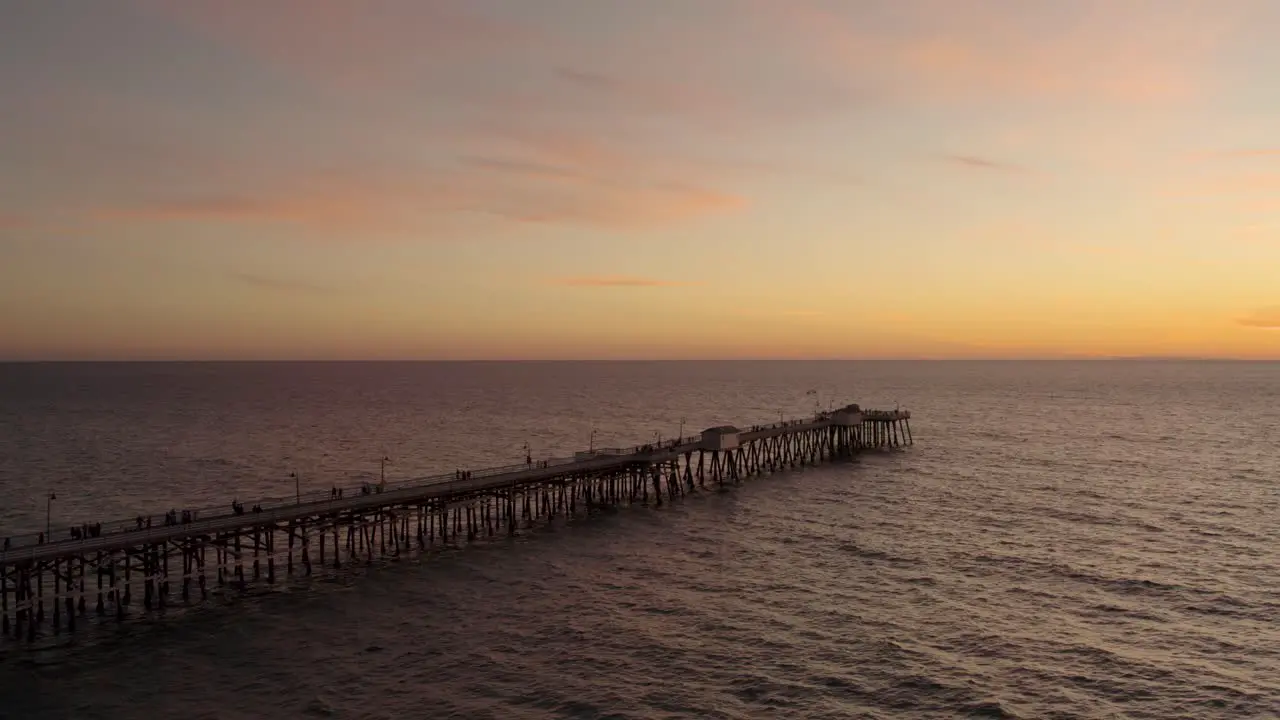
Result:
[[[0,527],[812,409],[906,452],[0,643],[0,716],[1277,717],[1280,365],[0,365]],[[177,618],[182,614],[184,616]]]

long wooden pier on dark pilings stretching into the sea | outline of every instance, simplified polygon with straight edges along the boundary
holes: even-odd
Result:
[[[906,410],[850,405],[803,420],[708,428],[694,437],[573,457],[338,488],[248,510],[92,523],[58,539],[10,537],[0,551],[0,630],[36,639],[95,616],[207,600],[283,574],[454,547],[600,507],[660,506],[750,475],[913,443]],[[141,594],[141,601],[138,598]]]

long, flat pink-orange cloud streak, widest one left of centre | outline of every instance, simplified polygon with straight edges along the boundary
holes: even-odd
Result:
[[[155,197],[100,208],[93,218],[125,223],[285,224],[310,232],[367,237],[421,231],[438,225],[442,218],[468,213],[518,223],[646,229],[746,205],[740,196],[687,183],[626,176],[611,179],[612,167],[598,161],[593,167],[556,172],[515,160],[485,160],[479,169],[428,176],[330,174],[248,192]]]

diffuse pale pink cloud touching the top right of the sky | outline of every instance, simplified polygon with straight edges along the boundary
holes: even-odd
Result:
[[[803,51],[832,72],[906,97],[972,101],[1187,100],[1240,17],[1230,3],[902,0],[886,10],[900,29],[884,32],[814,0],[758,6],[796,28]]]

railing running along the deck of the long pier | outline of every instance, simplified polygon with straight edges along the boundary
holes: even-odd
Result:
[[[882,419],[878,415],[883,414],[883,415],[888,416],[888,415],[895,415],[896,413],[895,411],[888,411],[888,413],[864,411],[864,414],[865,414],[865,416],[868,419]],[[750,433],[750,432],[768,432],[768,430],[791,428],[791,427],[796,427],[796,425],[804,425],[804,424],[809,424],[809,423],[814,423],[814,421],[822,421],[822,420],[827,419],[828,416],[829,416],[829,414],[827,414],[827,413],[817,413],[815,415],[808,416],[808,418],[790,418],[790,419],[783,419],[781,421],[751,424],[751,425],[742,427],[740,429],[742,432],[748,432],[748,433]],[[673,448],[686,447],[686,446],[698,446],[698,445],[701,443],[701,441],[703,441],[703,437],[699,433],[699,434],[694,434],[694,436],[686,436],[686,437],[682,437],[682,438],[663,439],[660,445],[657,443],[657,442],[654,442],[654,443],[641,443],[641,445],[636,445],[636,446],[631,446],[631,447],[612,447],[612,448],[603,448],[602,447],[602,448],[593,448],[593,450],[585,451],[585,454],[588,455],[588,457],[585,457],[585,459],[580,459],[575,454],[575,456],[571,456],[571,457],[552,457],[552,459],[534,460],[532,462],[517,462],[517,464],[512,464],[512,465],[499,465],[499,466],[493,466],[493,468],[483,468],[483,469],[477,469],[477,470],[461,470],[460,469],[460,470],[456,470],[453,473],[440,473],[440,474],[434,474],[434,475],[419,475],[419,477],[411,477],[411,478],[404,478],[404,479],[399,479],[399,480],[388,480],[385,484],[380,484],[380,483],[375,483],[375,482],[367,482],[367,480],[364,482],[364,483],[361,483],[361,484],[358,484],[358,486],[340,486],[340,484],[334,484],[333,488],[329,489],[329,491],[308,491],[308,492],[302,493],[301,496],[294,495],[294,496],[265,497],[265,498],[260,498],[260,500],[257,500],[256,502],[252,502],[252,503],[242,503],[242,507],[244,507],[244,505],[248,506],[248,509],[243,510],[242,512],[233,511],[230,502],[227,502],[227,503],[219,505],[219,506],[211,506],[211,507],[195,507],[195,509],[183,507],[183,509],[175,509],[177,512],[178,512],[179,520],[177,523],[170,523],[169,525],[165,524],[166,514],[163,514],[163,512],[159,514],[159,515],[150,514],[150,512],[148,514],[138,514],[138,515],[134,515],[134,516],[127,518],[127,519],[106,520],[106,521],[93,523],[93,525],[96,525],[100,529],[100,534],[99,536],[92,536],[92,537],[88,533],[82,533],[81,537],[78,537],[78,538],[70,537],[69,536],[70,528],[72,527],[79,527],[79,525],[60,524],[58,528],[50,530],[50,537],[42,537],[44,533],[40,533],[40,532],[10,536],[10,537],[8,537],[6,546],[3,547],[3,550],[6,551],[6,552],[13,552],[15,550],[23,550],[23,548],[35,550],[36,547],[40,547],[42,544],[52,544],[52,543],[61,544],[61,546],[77,544],[77,543],[88,543],[88,542],[95,541],[97,537],[104,537],[104,536],[108,536],[108,534],[116,534],[116,533],[122,533],[122,532],[131,533],[131,534],[134,534],[134,536],[141,536],[141,537],[145,538],[145,537],[150,536],[151,533],[166,534],[166,533],[170,532],[169,528],[173,528],[173,527],[180,527],[180,525],[187,525],[187,524],[204,524],[204,523],[207,523],[207,521],[224,520],[224,519],[234,518],[234,516],[251,518],[253,515],[259,515],[259,512],[255,512],[252,510],[253,507],[260,507],[261,509],[261,512],[260,512],[261,515],[269,515],[273,511],[296,509],[296,507],[300,507],[300,506],[310,506],[310,507],[315,507],[317,510],[324,510],[325,505],[333,503],[333,505],[338,506],[338,505],[343,503],[344,501],[349,501],[352,498],[360,497],[364,493],[365,488],[369,488],[369,495],[370,496],[388,493],[388,492],[404,491],[404,489],[430,489],[430,488],[435,488],[435,487],[440,487],[440,486],[448,486],[449,483],[456,483],[456,482],[475,480],[475,479],[489,478],[489,477],[494,477],[494,475],[503,475],[503,474],[509,474],[509,473],[518,473],[518,471],[522,471],[522,470],[535,470],[535,469],[541,469],[541,468],[559,468],[559,466],[564,466],[564,465],[572,465],[572,464],[591,461],[591,460],[596,460],[596,459],[607,457],[607,456],[616,456],[616,457],[643,456],[643,455],[646,455],[646,454],[650,454],[650,452],[671,451]],[[690,447],[690,450],[691,450],[691,447]],[[460,473],[462,473],[462,474],[460,474]],[[340,498],[334,497],[332,495],[333,489],[340,489],[342,491],[342,497]],[[192,518],[191,523],[183,523],[180,520],[183,512],[191,512],[192,514],[191,515],[191,518]],[[141,527],[138,525],[138,519],[140,518],[142,520]],[[266,519],[264,518],[264,521]],[[54,538],[58,538],[58,539],[54,539]]]

